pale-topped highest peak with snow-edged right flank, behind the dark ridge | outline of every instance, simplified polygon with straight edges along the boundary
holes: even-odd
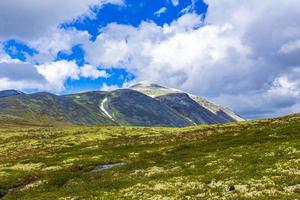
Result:
[[[142,92],[152,98],[165,102],[177,112],[184,114],[188,119],[195,119],[195,116],[197,116],[195,120],[192,120],[196,124],[199,124],[199,122],[204,124],[214,124],[244,121],[244,119],[227,108],[178,89],[167,88],[150,82],[135,84],[131,86],[130,89]],[[184,101],[182,98],[184,98]],[[181,106],[177,103],[181,104]],[[196,106],[195,103],[198,106]]]

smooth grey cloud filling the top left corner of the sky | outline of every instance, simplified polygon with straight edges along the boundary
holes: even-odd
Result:
[[[0,1],[0,40],[32,40],[49,35],[57,26],[81,15],[89,8],[122,0],[10,0]]]

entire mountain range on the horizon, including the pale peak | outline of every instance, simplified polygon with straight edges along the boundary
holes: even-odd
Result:
[[[232,111],[201,97],[154,83],[128,89],[69,95],[0,92],[0,119],[48,124],[165,126],[241,121]]]

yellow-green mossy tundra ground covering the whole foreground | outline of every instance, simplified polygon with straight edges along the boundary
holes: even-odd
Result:
[[[15,188],[3,199],[300,196],[299,115],[188,128],[2,124],[0,191]]]

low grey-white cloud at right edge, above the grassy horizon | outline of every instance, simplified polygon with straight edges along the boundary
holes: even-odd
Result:
[[[299,99],[299,81],[283,75],[275,78],[269,89],[222,94],[213,100],[246,113],[248,118],[262,118],[300,112]]]

